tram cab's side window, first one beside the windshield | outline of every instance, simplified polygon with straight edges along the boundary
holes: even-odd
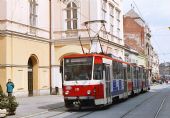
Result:
[[[94,65],[94,80],[102,80],[103,79],[103,66],[102,64],[95,64]]]

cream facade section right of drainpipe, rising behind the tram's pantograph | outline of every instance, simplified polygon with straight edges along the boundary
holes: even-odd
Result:
[[[61,0],[53,1],[53,8],[54,87],[62,88],[59,65],[64,55],[84,50],[124,60],[122,0]]]

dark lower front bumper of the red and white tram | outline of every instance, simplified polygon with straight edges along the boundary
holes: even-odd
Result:
[[[94,97],[65,97],[64,98],[65,107],[67,108],[82,108],[82,107],[94,107],[95,100]]]

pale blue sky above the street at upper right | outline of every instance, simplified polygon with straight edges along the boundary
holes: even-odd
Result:
[[[124,14],[131,8],[151,29],[151,42],[160,63],[170,62],[170,0],[123,0]]]

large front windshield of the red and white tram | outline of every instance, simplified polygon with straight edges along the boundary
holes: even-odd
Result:
[[[64,80],[90,80],[92,73],[92,62],[92,57],[65,59]]]

